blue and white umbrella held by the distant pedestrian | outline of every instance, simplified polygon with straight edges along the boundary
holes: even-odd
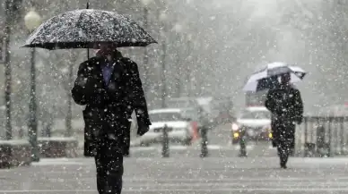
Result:
[[[296,83],[307,74],[298,66],[291,66],[287,63],[268,63],[261,71],[253,73],[244,86],[244,91],[260,91],[274,87],[278,81],[278,76],[284,73],[291,73],[291,83]],[[274,82],[275,81],[275,82]]]

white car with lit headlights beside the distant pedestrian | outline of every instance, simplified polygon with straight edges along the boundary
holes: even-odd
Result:
[[[239,143],[244,135],[250,140],[270,140],[271,113],[265,106],[248,107],[239,114],[236,122],[231,124],[232,144]]]

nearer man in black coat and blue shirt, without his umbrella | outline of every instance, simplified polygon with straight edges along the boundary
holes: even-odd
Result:
[[[72,95],[83,110],[84,156],[93,156],[100,194],[120,194],[123,156],[129,155],[131,114],[135,111],[139,136],[151,125],[137,64],[123,57],[113,44],[79,66]]]

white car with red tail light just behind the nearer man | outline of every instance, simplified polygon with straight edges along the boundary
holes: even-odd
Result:
[[[140,144],[149,146],[153,143],[161,143],[162,129],[169,127],[169,139],[182,145],[190,145],[197,134],[196,111],[192,108],[167,108],[149,111],[152,125],[150,131],[140,137]]]

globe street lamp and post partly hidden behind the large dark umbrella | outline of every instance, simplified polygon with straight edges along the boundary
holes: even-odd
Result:
[[[29,32],[36,30],[41,23],[41,16],[34,10],[30,10],[24,17],[24,23]],[[32,147],[31,160],[39,162],[38,150],[38,122],[36,104],[36,72],[35,72],[35,48],[30,49],[30,122],[29,122],[29,141]]]

